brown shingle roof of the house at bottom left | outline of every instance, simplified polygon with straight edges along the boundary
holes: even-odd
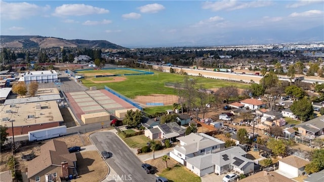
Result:
[[[41,146],[41,155],[32,159],[28,164],[28,178],[51,165],[61,166],[61,162],[68,162],[68,166],[75,167],[75,153],[69,153],[64,141],[51,140]]]

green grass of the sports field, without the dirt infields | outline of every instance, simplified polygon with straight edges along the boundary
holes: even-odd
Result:
[[[87,70],[88,73],[93,73],[94,71],[106,71],[111,72],[112,70]],[[115,70],[114,70],[115,71]],[[128,71],[125,69],[120,69],[120,74],[125,74],[123,71]],[[147,70],[148,71],[148,70]],[[217,88],[224,87],[228,85],[235,85],[238,88],[249,88],[249,84],[242,84],[237,82],[228,82],[223,80],[208,79],[203,77],[192,77],[183,76],[177,74],[170,74],[166,72],[154,72],[154,75],[136,75],[136,76],[126,76],[127,80],[123,82],[111,82],[111,83],[93,83],[89,80],[82,79],[83,84],[87,87],[96,86],[97,89],[104,89],[104,86],[108,86],[113,90],[125,95],[129,98],[135,98],[138,95],[150,95],[150,94],[168,94],[176,95],[176,91],[173,88],[165,87],[166,82],[179,82],[183,83],[184,79],[194,79],[197,85],[202,85],[203,87]],[[112,72],[111,72],[112,73]]]

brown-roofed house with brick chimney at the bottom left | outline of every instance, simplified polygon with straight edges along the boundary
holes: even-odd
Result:
[[[77,176],[75,153],[69,153],[64,141],[50,140],[41,146],[41,155],[29,162],[27,171],[30,182]]]

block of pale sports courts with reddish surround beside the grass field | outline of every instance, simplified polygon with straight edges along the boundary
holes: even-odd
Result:
[[[79,120],[83,114],[108,112],[115,115],[116,110],[134,108],[132,104],[104,89],[66,92],[65,95]]]

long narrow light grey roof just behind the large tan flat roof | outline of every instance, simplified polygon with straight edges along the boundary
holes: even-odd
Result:
[[[42,102],[50,100],[60,100],[61,96],[59,94],[55,95],[39,95],[37,97],[21,97],[15,99],[6,99],[4,105],[18,104],[18,103],[30,103],[30,102]]]

